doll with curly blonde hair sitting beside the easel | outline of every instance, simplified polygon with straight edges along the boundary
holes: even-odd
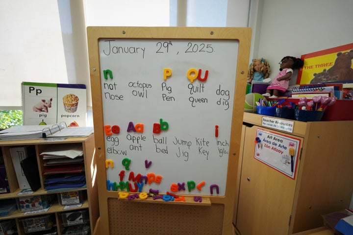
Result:
[[[248,71],[248,84],[251,84],[252,81],[260,81],[268,78],[270,74],[270,65],[264,58],[253,59],[252,63],[249,66]]]

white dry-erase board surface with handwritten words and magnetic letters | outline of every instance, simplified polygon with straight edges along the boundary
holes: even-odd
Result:
[[[238,49],[236,40],[99,39],[103,125],[120,128],[104,135],[109,182],[133,172],[151,176],[142,191],[225,195]],[[154,133],[154,123],[168,129]]]

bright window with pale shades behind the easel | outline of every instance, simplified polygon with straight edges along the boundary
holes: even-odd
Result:
[[[249,1],[2,1],[0,110],[21,109],[23,81],[86,84],[90,96],[86,26],[245,27]]]

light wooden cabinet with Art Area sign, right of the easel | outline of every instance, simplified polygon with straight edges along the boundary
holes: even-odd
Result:
[[[254,158],[257,129],[301,140],[295,178]],[[293,133],[245,113],[233,224],[240,235],[294,234],[323,226],[321,215],[349,207],[353,121],[294,121]]]

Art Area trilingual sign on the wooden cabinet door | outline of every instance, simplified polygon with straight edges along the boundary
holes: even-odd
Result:
[[[257,129],[254,158],[295,179],[300,140]]]

